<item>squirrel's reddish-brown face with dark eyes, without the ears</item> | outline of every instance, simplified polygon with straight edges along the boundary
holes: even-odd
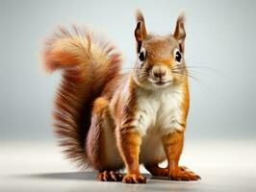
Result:
[[[149,89],[181,84],[186,77],[184,54],[173,36],[148,36],[141,44],[135,79]]]

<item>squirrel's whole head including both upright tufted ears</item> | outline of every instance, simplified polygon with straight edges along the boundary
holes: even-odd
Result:
[[[184,22],[184,13],[181,13],[173,34],[151,35],[147,34],[141,11],[137,12],[135,37],[138,57],[134,67],[137,84],[146,89],[159,89],[181,84],[186,80]]]

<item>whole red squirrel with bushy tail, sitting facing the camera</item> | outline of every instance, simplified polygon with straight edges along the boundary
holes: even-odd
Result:
[[[190,107],[184,13],[166,36],[148,34],[141,11],[136,21],[137,58],[128,73],[115,46],[90,31],[60,28],[46,41],[45,70],[63,72],[53,112],[60,145],[102,181],[145,183],[140,164],[153,176],[200,180],[179,166]]]

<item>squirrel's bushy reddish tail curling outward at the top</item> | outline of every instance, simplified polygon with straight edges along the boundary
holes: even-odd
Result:
[[[73,27],[71,32],[61,28],[46,42],[43,59],[47,72],[63,71],[53,113],[60,145],[67,157],[85,166],[92,102],[119,74],[120,54],[100,36]]]

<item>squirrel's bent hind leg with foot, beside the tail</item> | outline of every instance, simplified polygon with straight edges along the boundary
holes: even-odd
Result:
[[[86,142],[90,166],[101,173],[99,178],[116,178],[115,172],[110,171],[123,168],[123,162],[116,147],[115,123],[111,116],[109,101],[103,97],[98,97],[93,102]]]

